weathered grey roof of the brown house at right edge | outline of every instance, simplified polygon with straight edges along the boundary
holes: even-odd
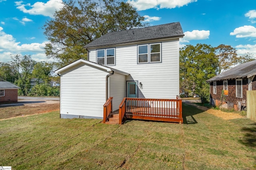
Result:
[[[206,80],[206,82],[228,80],[234,78],[248,78],[254,75],[256,75],[256,60],[239,64],[238,66],[230,68],[229,70],[222,72],[219,75],[210,78],[209,80]]]

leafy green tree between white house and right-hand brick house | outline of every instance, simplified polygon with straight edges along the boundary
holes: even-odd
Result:
[[[180,49],[180,89],[187,96],[209,96],[209,84],[205,81],[216,75],[218,58],[214,47],[206,44],[186,45]]]

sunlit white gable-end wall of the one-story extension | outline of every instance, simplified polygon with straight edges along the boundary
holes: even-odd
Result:
[[[103,117],[107,74],[86,64],[63,72],[60,114]]]

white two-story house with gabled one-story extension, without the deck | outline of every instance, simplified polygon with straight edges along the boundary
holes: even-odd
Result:
[[[60,75],[61,118],[103,118],[123,98],[176,99],[179,95],[179,22],[107,33],[84,48],[79,59],[55,72]]]

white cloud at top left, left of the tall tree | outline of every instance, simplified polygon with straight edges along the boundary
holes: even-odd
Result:
[[[53,17],[55,11],[60,10],[64,4],[62,0],[49,0],[48,2],[36,2],[33,5],[23,4],[22,1],[15,2],[17,9],[30,15],[43,15]],[[26,7],[30,9],[26,9]]]

